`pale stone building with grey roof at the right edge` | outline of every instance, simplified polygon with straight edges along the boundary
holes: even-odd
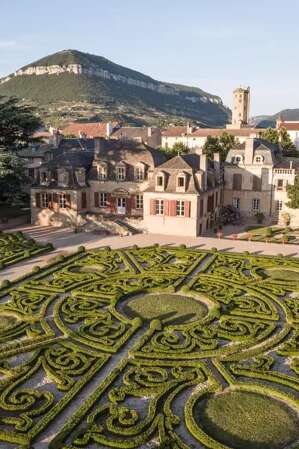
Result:
[[[298,169],[299,161],[284,157],[279,146],[249,138],[227,155],[224,205],[233,205],[244,217],[262,213],[272,223],[281,223],[287,212],[291,224],[298,225],[299,215],[287,207],[287,186],[294,184]]]

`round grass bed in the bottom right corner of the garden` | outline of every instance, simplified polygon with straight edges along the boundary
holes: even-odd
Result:
[[[283,449],[299,437],[293,410],[256,393],[209,396],[198,403],[194,416],[208,435],[233,449]]]

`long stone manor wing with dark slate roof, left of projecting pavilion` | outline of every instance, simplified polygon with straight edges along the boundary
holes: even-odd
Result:
[[[143,215],[143,192],[165,156],[143,143],[66,139],[42,164],[31,188],[32,223],[69,223],[78,215]]]

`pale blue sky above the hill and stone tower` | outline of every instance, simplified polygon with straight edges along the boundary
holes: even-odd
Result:
[[[299,0],[0,0],[0,77],[63,49],[200,87],[251,115],[299,108]]]

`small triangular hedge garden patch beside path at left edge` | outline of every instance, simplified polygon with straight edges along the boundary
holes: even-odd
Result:
[[[0,231],[0,270],[52,249],[52,244],[42,245],[26,237],[22,232]]]

